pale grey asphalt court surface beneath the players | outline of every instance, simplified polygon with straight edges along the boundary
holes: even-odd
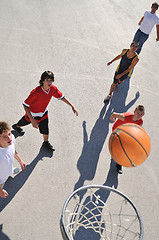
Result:
[[[1,120],[12,125],[24,114],[22,102],[45,70],[54,72],[55,85],[79,112],[76,117],[65,103],[50,102],[53,155],[41,149],[42,137],[31,126],[16,138],[16,150],[27,168],[9,179],[9,196],[0,199],[0,240],[62,239],[59,219],[64,201],[74,189],[88,184],[105,184],[126,194],[142,216],[144,240],[157,240],[159,43],[155,27],[131,79],[116,88],[109,105],[103,103],[118,62],[109,67],[106,63],[129,48],[152,2],[0,3]],[[146,109],[143,126],[151,138],[151,153],[143,164],[124,168],[123,175],[117,176],[108,150],[109,118],[113,111],[132,112],[138,104]]]

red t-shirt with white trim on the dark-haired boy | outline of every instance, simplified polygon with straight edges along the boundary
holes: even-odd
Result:
[[[48,92],[46,92],[42,86],[38,86],[31,91],[30,95],[23,104],[24,106],[29,107],[33,117],[42,117],[47,110],[47,106],[52,96],[58,99],[62,99],[64,97],[64,95],[54,85],[51,85]]]

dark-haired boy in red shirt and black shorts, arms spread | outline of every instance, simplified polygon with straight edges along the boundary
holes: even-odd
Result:
[[[55,149],[48,141],[49,127],[47,106],[52,96],[70,105],[76,116],[78,116],[78,112],[75,106],[57,89],[57,87],[52,85],[52,82],[54,82],[54,74],[51,71],[43,72],[39,81],[40,86],[33,89],[28,98],[23,102],[26,112],[25,116],[16,124],[13,124],[12,128],[16,132],[24,134],[21,127],[31,123],[34,128],[39,128],[40,133],[43,134],[43,146],[54,151]]]

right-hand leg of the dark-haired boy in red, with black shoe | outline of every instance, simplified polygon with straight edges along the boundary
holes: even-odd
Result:
[[[49,142],[49,126],[48,126],[48,118],[45,118],[44,120],[40,121],[39,123],[39,131],[41,134],[43,134],[44,142],[42,144],[43,147],[48,149],[49,151],[55,151],[51,143]]]

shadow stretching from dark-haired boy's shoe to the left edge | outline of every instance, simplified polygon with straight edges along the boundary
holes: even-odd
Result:
[[[40,151],[36,158],[26,166],[25,170],[20,171],[14,178],[9,177],[4,185],[4,189],[8,192],[6,198],[0,198],[0,212],[10,203],[18,191],[23,187],[37,163],[43,160],[43,157],[51,158],[53,156],[52,152],[47,151],[44,147],[40,148]]]

